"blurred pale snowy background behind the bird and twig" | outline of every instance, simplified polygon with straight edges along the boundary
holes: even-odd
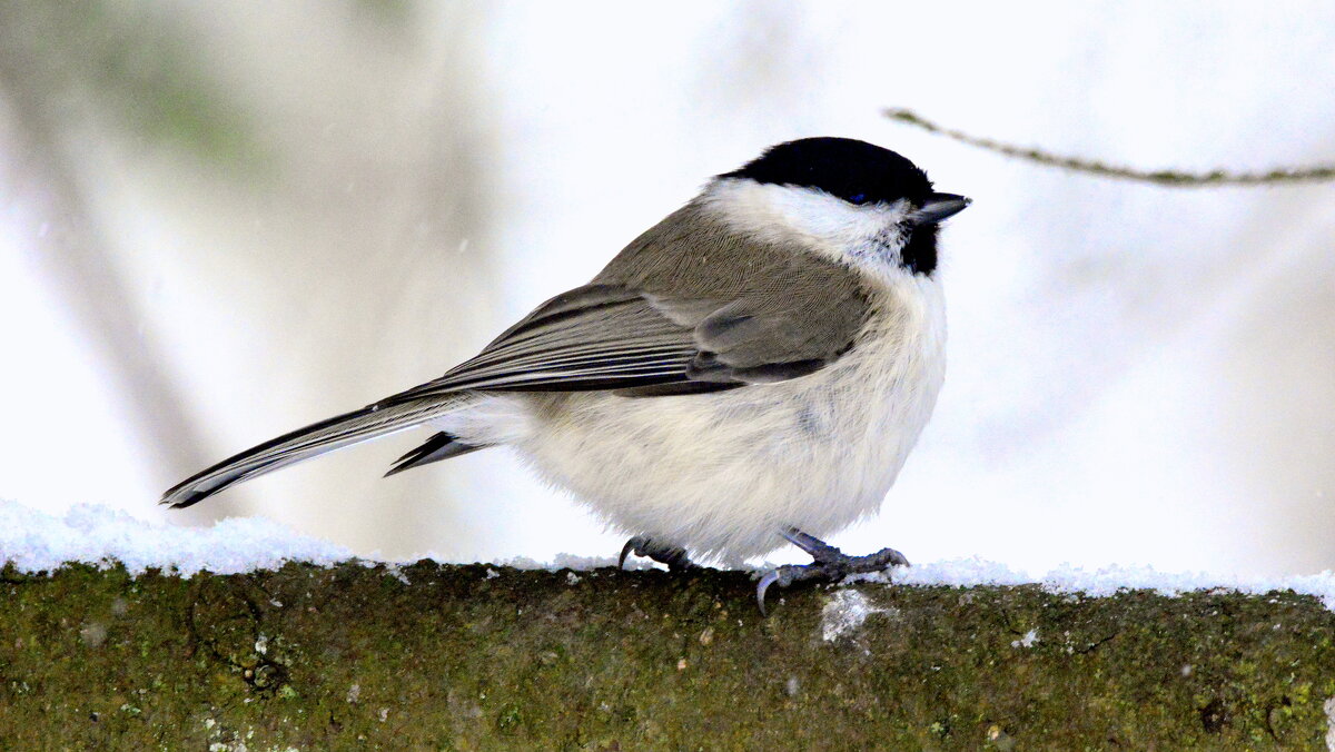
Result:
[[[1335,568],[1328,3],[0,0],[0,497],[362,554],[614,556],[506,450],[399,434],[187,512],[163,489],[434,378],[713,174],[842,135],[975,199],[949,373],[880,517],[832,542],[1220,573]],[[1326,93],[1322,93],[1326,92]],[[797,561],[790,553],[774,561]]]

